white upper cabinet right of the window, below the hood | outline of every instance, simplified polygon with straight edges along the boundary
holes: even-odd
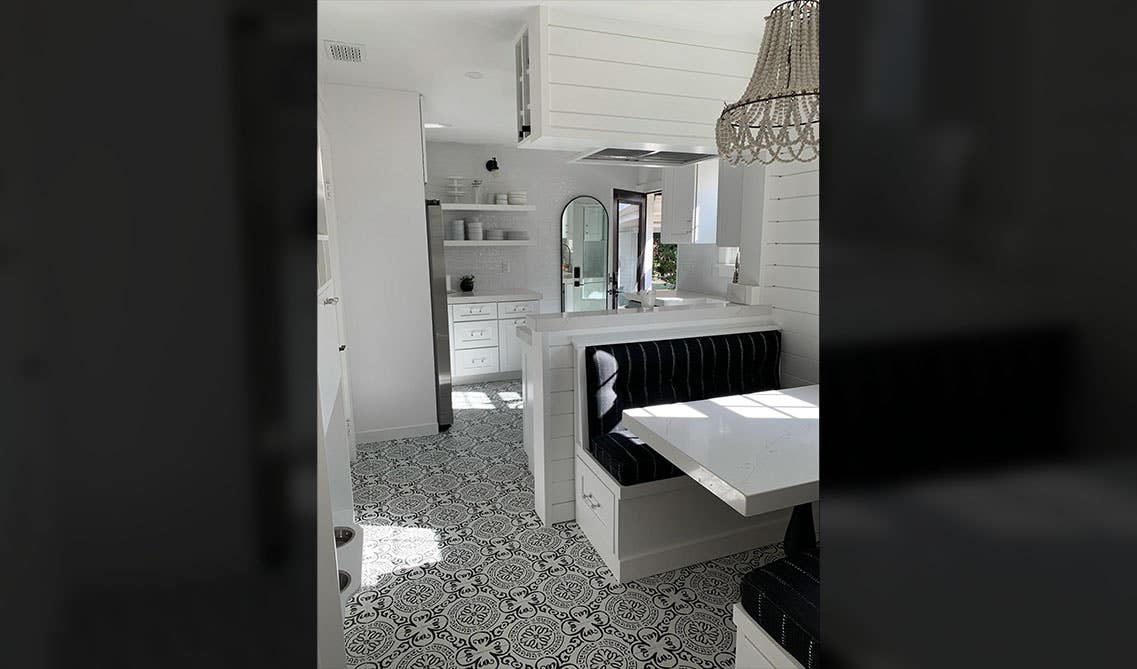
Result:
[[[663,243],[715,243],[719,160],[663,170]]]

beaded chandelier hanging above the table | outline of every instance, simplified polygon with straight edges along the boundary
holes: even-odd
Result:
[[[818,0],[789,0],[770,11],[750,83],[715,125],[719,155],[731,165],[818,158],[819,24]]]

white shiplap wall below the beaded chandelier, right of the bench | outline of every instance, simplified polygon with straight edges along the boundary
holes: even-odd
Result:
[[[806,386],[819,373],[819,228],[821,187],[818,163],[766,167],[763,210],[762,304],[782,329],[782,386]]]

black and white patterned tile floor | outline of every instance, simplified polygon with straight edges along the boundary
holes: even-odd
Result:
[[[356,669],[732,667],[741,576],[780,544],[621,585],[575,522],[533,512],[520,383],[455,388],[448,432],[370,444],[352,465]]]

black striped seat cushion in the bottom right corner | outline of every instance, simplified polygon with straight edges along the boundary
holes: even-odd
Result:
[[[786,652],[818,668],[821,643],[821,544],[742,577],[742,608]]]

